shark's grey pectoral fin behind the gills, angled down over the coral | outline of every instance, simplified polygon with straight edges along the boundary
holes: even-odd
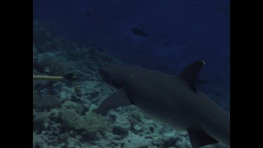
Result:
[[[97,114],[107,114],[110,109],[115,109],[117,107],[122,107],[126,105],[131,105],[130,99],[124,88],[116,90],[112,95],[110,95],[97,109]]]

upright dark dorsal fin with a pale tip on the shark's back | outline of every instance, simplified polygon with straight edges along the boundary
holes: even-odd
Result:
[[[196,93],[196,76],[203,65],[205,65],[205,62],[203,62],[203,60],[194,62],[188,67],[185,67],[182,72],[178,74],[178,77],[187,82],[191,90],[194,90],[194,92]]]

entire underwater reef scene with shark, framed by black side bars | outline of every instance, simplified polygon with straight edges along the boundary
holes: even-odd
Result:
[[[33,147],[230,147],[229,5],[33,0]]]

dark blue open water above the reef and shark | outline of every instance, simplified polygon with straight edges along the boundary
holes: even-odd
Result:
[[[34,20],[66,39],[170,74],[205,60],[199,76],[209,83],[200,89],[229,97],[229,9],[228,0],[34,0]],[[133,27],[149,36],[133,34]]]

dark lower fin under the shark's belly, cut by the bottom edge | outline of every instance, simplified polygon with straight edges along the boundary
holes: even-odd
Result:
[[[191,146],[193,148],[200,148],[208,144],[214,144],[218,141],[215,140],[213,137],[210,137],[210,135],[207,135],[201,130],[187,130],[189,139],[191,142]]]

